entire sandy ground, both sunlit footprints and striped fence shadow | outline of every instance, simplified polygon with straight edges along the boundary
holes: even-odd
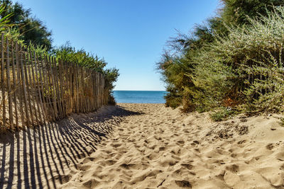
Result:
[[[0,188],[284,188],[277,117],[107,106],[1,136]]]

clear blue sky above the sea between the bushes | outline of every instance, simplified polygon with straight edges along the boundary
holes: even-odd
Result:
[[[14,0],[13,0],[14,1]],[[15,2],[15,1],[14,1]],[[180,30],[214,16],[219,0],[18,0],[53,33],[119,69],[115,90],[165,90],[155,63]]]

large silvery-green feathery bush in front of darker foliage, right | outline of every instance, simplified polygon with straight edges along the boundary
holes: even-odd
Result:
[[[191,101],[202,110],[239,105],[247,113],[284,108],[284,8],[228,27],[194,57]],[[232,103],[228,103],[229,101]]]

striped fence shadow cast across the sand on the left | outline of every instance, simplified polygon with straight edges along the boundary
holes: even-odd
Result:
[[[0,137],[0,188],[58,188],[121,120],[141,113],[107,106]]]

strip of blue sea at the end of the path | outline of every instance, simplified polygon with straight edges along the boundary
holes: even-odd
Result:
[[[116,103],[165,103],[167,91],[114,91]]]

